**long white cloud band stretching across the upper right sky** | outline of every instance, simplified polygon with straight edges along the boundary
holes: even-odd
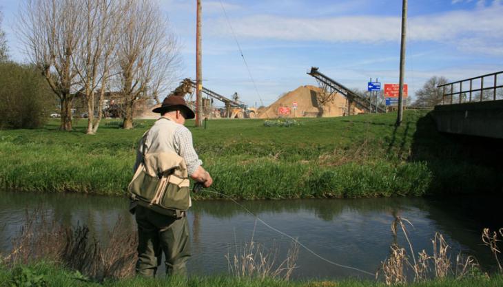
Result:
[[[464,50],[468,43],[478,43],[479,48],[471,48],[473,52],[503,54],[501,15],[503,6],[493,1],[472,11],[409,17],[407,36],[411,41],[459,43]],[[309,19],[261,14],[234,20],[232,25],[240,39],[380,43],[400,41],[400,21],[400,17],[376,15]],[[214,37],[231,36],[223,18],[208,21],[206,29]]]

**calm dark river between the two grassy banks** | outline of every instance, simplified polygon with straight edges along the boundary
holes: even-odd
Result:
[[[27,210],[43,209],[62,224],[87,224],[100,240],[106,240],[121,217],[131,230],[134,217],[127,212],[125,198],[74,193],[0,192],[0,252],[12,248],[25,222]],[[432,253],[431,239],[438,231],[451,246],[451,258],[462,251],[475,255],[486,270],[495,269],[489,248],[482,245],[483,227],[503,227],[500,199],[489,196],[455,198],[372,198],[353,200],[258,200],[240,202],[249,211],[274,228],[296,237],[314,253],[337,264],[374,273],[389,255],[393,242],[391,224],[394,215],[407,218],[415,252]],[[236,248],[254,242],[266,248],[278,248],[278,258],[285,257],[291,240],[257,222],[242,207],[223,200],[195,201],[187,215],[191,229],[192,258],[189,273],[226,274],[227,259]],[[398,242],[406,246],[400,234]],[[333,266],[300,248],[295,278],[360,277],[368,275],[353,269]]]

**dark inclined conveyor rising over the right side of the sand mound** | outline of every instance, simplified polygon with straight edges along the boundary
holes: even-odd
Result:
[[[337,81],[318,72],[318,67],[311,67],[311,71],[307,72],[307,74],[316,78],[316,81],[318,81],[320,85],[327,85],[331,89],[331,91],[329,91],[330,93],[339,92],[340,94],[342,94],[342,96],[345,96],[348,101],[348,114],[351,114],[351,105],[354,105],[355,107],[358,107],[358,109],[362,109],[367,112],[372,111],[372,109],[375,108],[372,107],[369,99],[356,94],[355,92],[351,91],[351,89],[348,89]],[[386,112],[382,107],[378,107],[378,111],[382,113]]]

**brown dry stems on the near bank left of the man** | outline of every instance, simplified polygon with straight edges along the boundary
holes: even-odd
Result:
[[[25,224],[14,238],[11,253],[3,258],[9,266],[50,260],[92,279],[120,279],[134,274],[136,233],[117,221],[109,241],[101,244],[90,234],[88,226],[65,227],[48,220],[39,209],[26,213]]]

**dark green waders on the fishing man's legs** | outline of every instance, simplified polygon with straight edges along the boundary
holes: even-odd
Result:
[[[136,274],[154,277],[164,253],[166,274],[186,276],[190,257],[187,217],[176,219],[143,206],[136,206],[135,215],[138,224]]]

